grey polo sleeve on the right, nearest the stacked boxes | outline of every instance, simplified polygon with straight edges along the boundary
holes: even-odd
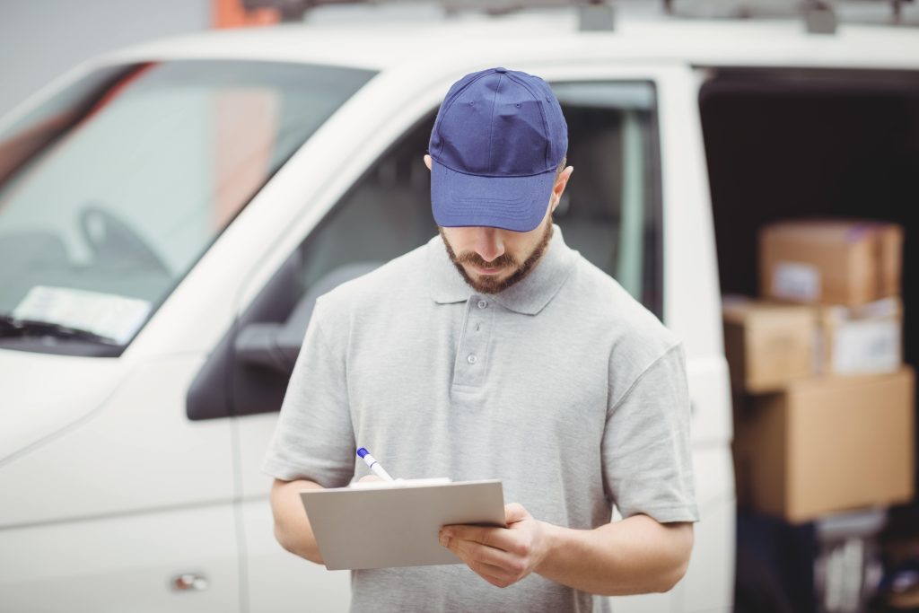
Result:
[[[683,346],[671,347],[607,413],[604,486],[622,514],[698,521]]]

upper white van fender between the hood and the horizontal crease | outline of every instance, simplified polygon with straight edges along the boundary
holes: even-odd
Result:
[[[0,491],[28,495],[5,496],[0,527],[229,506],[230,420],[185,416],[184,392],[202,362],[192,356],[137,365],[88,418],[7,462]]]

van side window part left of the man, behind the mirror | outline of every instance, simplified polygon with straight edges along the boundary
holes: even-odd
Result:
[[[316,299],[437,233],[423,159],[434,117],[384,153],[259,292],[192,384],[189,419],[278,411]]]

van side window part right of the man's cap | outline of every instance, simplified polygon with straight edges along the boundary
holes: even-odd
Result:
[[[555,83],[574,166],[555,221],[565,242],[658,317],[661,181],[654,86]]]

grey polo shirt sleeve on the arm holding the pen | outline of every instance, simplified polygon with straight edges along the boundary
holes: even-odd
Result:
[[[355,457],[342,338],[346,335],[327,335],[324,312],[320,298],[290,376],[262,471],[283,481],[307,479],[323,487],[341,487],[354,475]]]

